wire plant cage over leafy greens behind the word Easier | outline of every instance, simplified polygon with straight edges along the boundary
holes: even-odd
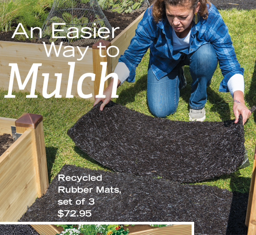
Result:
[[[52,37],[53,23],[65,23],[64,25],[54,26],[55,37],[62,38]],[[48,43],[54,42],[57,45],[61,42],[63,45],[71,46],[93,44],[102,39],[98,34],[101,27],[108,28],[109,32],[107,29],[102,29],[100,36],[107,37],[109,35],[111,37],[111,25],[97,0],[55,0],[42,26],[42,37],[40,39]],[[108,38],[105,38],[105,40],[108,40]]]

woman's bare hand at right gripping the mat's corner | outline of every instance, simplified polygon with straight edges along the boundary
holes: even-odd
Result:
[[[235,91],[233,94],[233,112],[236,117],[235,123],[238,123],[239,115],[243,117],[243,125],[252,114],[250,110],[244,104],[244,93],[241,91]]]

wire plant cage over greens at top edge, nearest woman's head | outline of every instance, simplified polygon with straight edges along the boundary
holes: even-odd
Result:
[[[133,13],[145,10],[150,6],[148,0],[98,0],[98,2],[102,10],[117,13]]]

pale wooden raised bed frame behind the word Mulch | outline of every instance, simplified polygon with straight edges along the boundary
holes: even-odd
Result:
[[[109,75],[114,71],[116,64],[118,63],[118,58],[128,48],[132,37],[134,37],[135,29],[137,29],[137,25],[142,19],[143,14],[137,17],[137,19],[134,20],[134,22],[131,23],[117,37],[115,37],[111,41],[111,43],[100,40],[100,42],[102,43],[105,42],[106,45],[105,50],[102,50],[102,55],[107,54],[106,50],[109,46],[116,46],[119,49],[119,55],[116,57],[100,57],[99,48],[97,48],[97,43],[94,44],[93,48],[88,48],[82,60],[77,60],[81,56],[79,56],[80,53],[76,47],[75,57],[64,57],[64,46],[62,46],[62,51],[59,57],[56,57],[54,52],[51,53],[50,57],[47,57],[43,44],[0,41],[0,88],[3,87],[3,89],[5,90],[9,89],[9,81],[11,74],[11,66],[9,66],[9,63],[17,63],[22,82],[28,75],[28,72],[33,63],[42,63],[42,66],[40,66],[38,69],[38,76],[35,88],[36,91],[42,94],[44,84],[44,77],[42,76],[42,73],[49,73],[49,82],[47,88],[48,94],[53,92],[56,88],[55,73],[62,73],[60,95],[62,95],[62,97],[66,97],[70,70],[68,62],[72,61],[76,62],[76,64],[73,76],[71,95],[79,97],[77,92],[77,83],[81,75],[85,73],[94,73],[96,75],[95,81],[91,81],[91,78],[87,77],[84,79],[82,86],[82,92],[84,93],[84,95],[92,94],[90,100],[94,100],[94,95],[98,95],[99,93],[99,84],[102,72],[102,66],[100,65],[100,62],[108,62],[106,75]],[[50,45],[46,46],[49,50]],[[58,50],[59,46],[56,45],[56,48]],[[82,52],[85,51],[85,48],[79,48]],[[115,48],[111,48],[109,51],[112,55],[115,55],[117,52]],[[108,86],[109,81],[110,79],[108,79],[108,81],[105,82],[105,87]],[[32,77],[29,79],[29,82],[27,83],[24,91],[30,92],[31,83]],[[16,78],[14,79],[12,90],[19,91]]]

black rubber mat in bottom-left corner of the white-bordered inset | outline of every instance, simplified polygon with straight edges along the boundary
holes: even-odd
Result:
[[[0,235],[39,235],[29,224],[0,224]]]

